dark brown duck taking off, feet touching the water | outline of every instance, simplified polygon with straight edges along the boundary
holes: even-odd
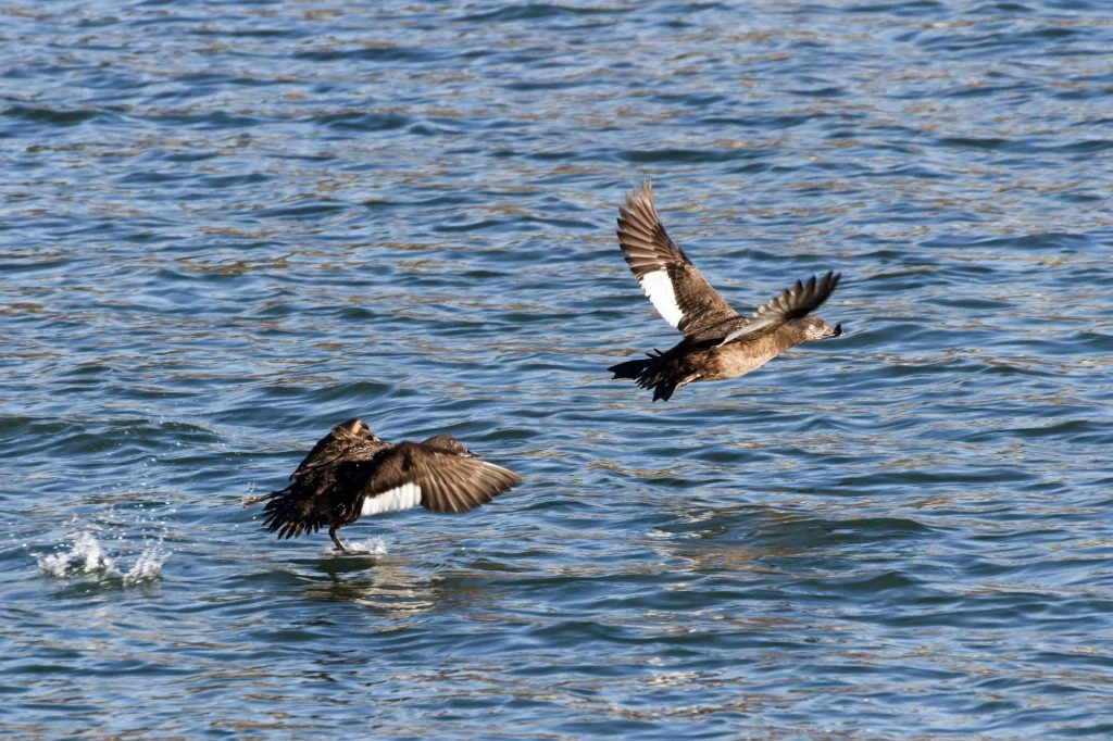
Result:
[[[456,514],[486,504],[522,483],[521,476],[480,461],[451,435],[424,443],[387,443],[363,419],[348,419],[317,441],[290,474],[289,485],[256,496],[244,506],[266,502],[263,526],[278,537],[297,537],[328,526],[336,531],[361,516],[423,506]]]

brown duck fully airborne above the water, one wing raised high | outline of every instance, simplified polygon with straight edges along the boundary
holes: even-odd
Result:
[[[811,276],[785,289],[748,317],[730,308],[700,274],[684,250],[664,231],[649,180],[619,207],[619,246],[642,290],[658,313],[683,334],[664,353],[627,360],[608,368],[614,378],[630,378],[653,389],[653,401],[697,381],[726,381],[756,370],[789,347],[838,337],[834,327],[808,316],[838,286],[839,274]]]

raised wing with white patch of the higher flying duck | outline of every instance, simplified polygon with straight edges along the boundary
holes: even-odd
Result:
[[[653,206],[649,180],[619,207],[619,246],[658,313],[684,336],[738,317],[669,238]]]

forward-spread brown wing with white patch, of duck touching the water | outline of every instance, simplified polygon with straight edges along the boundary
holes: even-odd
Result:
[[[364,490],[363,514],[421,505],[433,512],[474,510],[522,483],[512,471],[424,443],[400,443],[385,454]]]

